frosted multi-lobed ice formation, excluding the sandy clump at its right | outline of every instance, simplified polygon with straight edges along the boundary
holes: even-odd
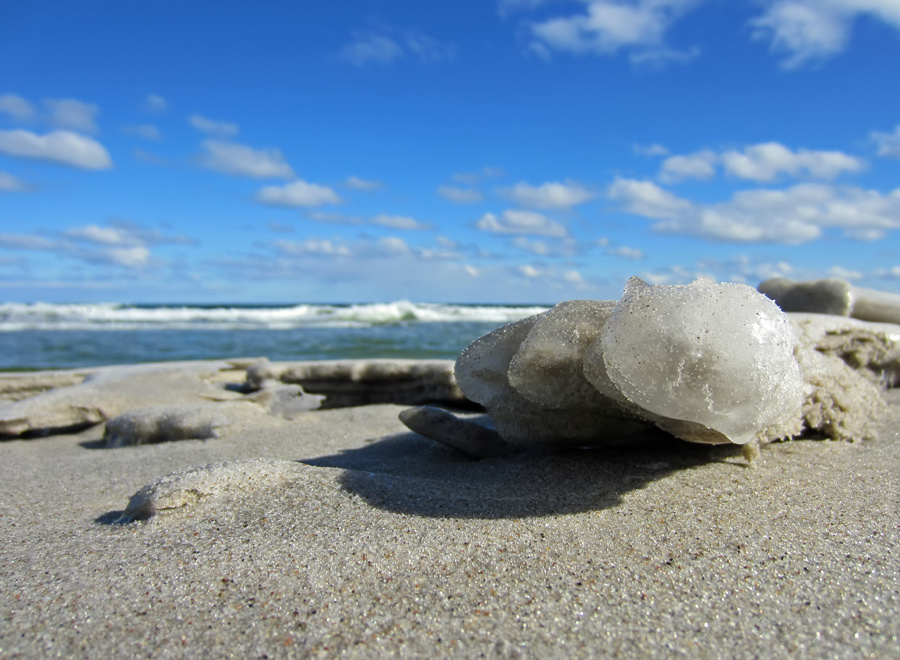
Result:
[[[574,300],[504,326],[456,378],[515,446],[579,446],[657,426],[739,445],[798,434],[810,385],[792,324],[752,287],[629,280],[621,300]]]

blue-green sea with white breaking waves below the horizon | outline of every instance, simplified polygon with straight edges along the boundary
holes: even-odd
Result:
[[[172,360],[455,358],[548,305],[0,304],[0,370]]]

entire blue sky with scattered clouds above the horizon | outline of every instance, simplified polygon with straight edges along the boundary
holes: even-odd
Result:
[[[0,0],[0,300],[900,291],[900,1]]]

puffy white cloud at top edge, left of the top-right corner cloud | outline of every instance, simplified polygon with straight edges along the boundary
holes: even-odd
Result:
[[[696,51],[678,52],[665,44],[666,32],[702,0],[585,0],[586,13],[551,18],[531,26],[541,49],[614,55],[632,50],[632,61],[648,58],[690,59]]]

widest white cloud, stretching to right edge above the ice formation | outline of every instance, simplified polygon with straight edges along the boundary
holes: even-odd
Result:
[[[734,242],[799,244],[838,228],[875,240],[900,228],[900,188],[882,194],[854,186],[803,183],[784,190],[739,191],[727,202],[695,204],[649,181],[616,179],[610,199],[657,220],[653,229]]]

